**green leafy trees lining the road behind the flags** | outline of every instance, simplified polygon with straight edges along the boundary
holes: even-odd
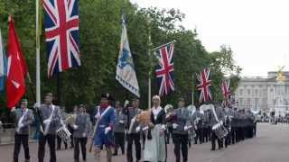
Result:
[[[9,14],[14,15],[15,28],[21,40],[30,74],[35,81],[35,1],[0,0],[0,27],[4,33],[5,43]],[[186,30],[179,25],[184,19],[184,14],[179,10],[143,9],[130,4],[127,0],[81,0],[79,33],[82,65],[61,73],[62,105],[68,110],[71,110],[73,104],[87,103],[89,106],[97,104],[101,93],[111,93],[120,101],[126,97],[134,97],[119,85],[115,78],[121,14],[126,14],[127,17],[128,40],[135,61],[143,108],[148,107],[147,78],[153,64],[148,56],[149,30],[154,47],[176,40],[174,50],[176,91],[163,97],[163,103],[175,104],[180,96],[191,102],[191,91],[196,91],[196,74],[203,67],[211,68],[214,99],[222,99],[220,83],[225,76],[233,75],[232,85],[234,88],[237,87],[240,68],[234,64],[232,50],[222,46],[216,52],[206,51],[197,38],[196,31]],[[47,54],[43,32],[42,27],[42,94],[47,91],[56,94],[56,77],[47,77]],[[152,83],[152,92],[157,94],[158,87],[154,75]],[[33,101],[32,92],[35,92],[34,86],[32,89],[27,88],[27,97],[31,101]],[[195,101],[198,97],[195,95]],[[1,95],[0,104],[5,107],[5,95]]]

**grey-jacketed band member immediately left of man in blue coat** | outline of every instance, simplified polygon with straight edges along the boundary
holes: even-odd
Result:
[[[76,116],[74,128],[74,161],[79,162],[79,143],[82,152],[83,161],[87,160],[87,141],[90,130],[89,114],[85,112],[83,104],[79,105],[79,113]]]

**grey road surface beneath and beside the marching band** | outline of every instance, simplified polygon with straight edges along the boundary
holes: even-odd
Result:
[[[13,148],[13,145],[0,146],[0,162],[13,161]],[[37,162],[37,148],[37,143],[30,144],[31,162]],[[46,148],[45,162],[49,161],[48,157],[49,149]],[[106,162],[105,152],[101,157],[101,162]],[[19,159],[23,159],[23,149]],[[73,162],[73,149],[57,151],[57,159],[58,162]],[[88,153],[87,162],[93,161],[93,154]],[[174,161],[171,144],[167,162]],[[126,156],[113,157],[113,162],[126,162]],[[210,143],[192,145],[189,162],[289,162],[289,125],[258,123],[256,138],[221,150],[210,151]]]

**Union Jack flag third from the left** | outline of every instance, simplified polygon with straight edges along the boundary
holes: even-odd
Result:
[[[210,69],[204,68],[201,70],[200,75],[197,76],[200,84],[197,86],[198,90],[200,90],[200,103],[203,102],[209,102],[211,99],[210,94]]]

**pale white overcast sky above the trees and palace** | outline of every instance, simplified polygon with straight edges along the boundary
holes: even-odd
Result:
[[[278,67],[289,70],[288,0],[130,0],[140,7],[177,8],[182,25],[197,29],[208,51],[227,45],[241,76],[266,76]],[[175,47],[177,48],[177,47]]]

